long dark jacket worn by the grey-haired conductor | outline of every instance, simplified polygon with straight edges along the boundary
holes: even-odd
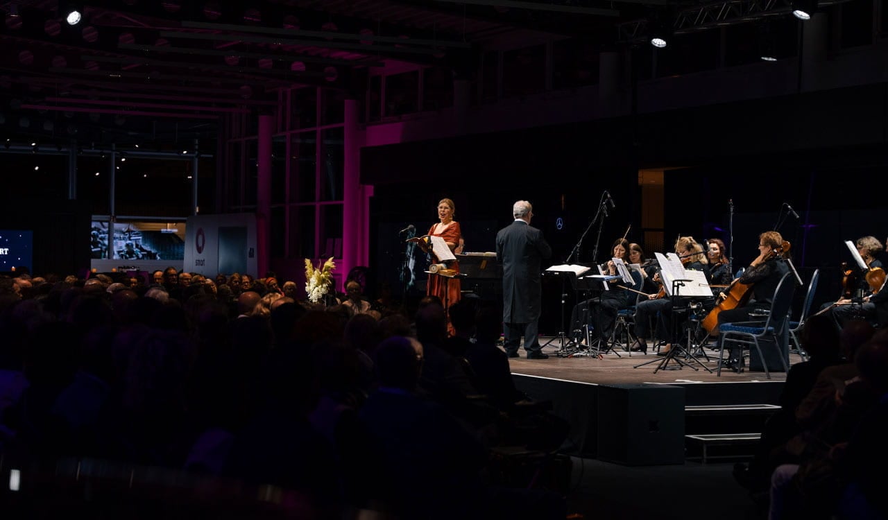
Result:
[[[503,264],[503,321],[530,323],[540,318],[542,263],[551,255],[543,232],[523,220],[496,233],[496,261]]]

